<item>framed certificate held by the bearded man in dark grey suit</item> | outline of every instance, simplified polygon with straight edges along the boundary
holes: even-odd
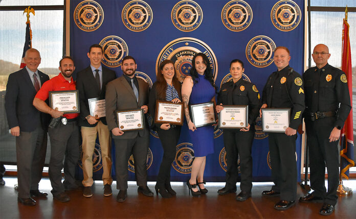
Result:
[[[122,131],[140,130],[145,127],[143,109],[116,111],[118,127]]]

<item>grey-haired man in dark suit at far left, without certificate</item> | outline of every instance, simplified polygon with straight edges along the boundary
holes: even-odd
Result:
[[[37,70],[41,57],[30,48],[25,54],[26,67],[9,75],[5,109],[11,135],[16,136],[18,202],[36,205],[32,197],[48,194],[38,190],[47,151],[50,117],[39,112],[32,101],[48,75]]]

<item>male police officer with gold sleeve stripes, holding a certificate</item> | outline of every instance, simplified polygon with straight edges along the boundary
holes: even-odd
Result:
[[[272,73],[263,88],[261,108],[291,108],[290,125],[284,133],[269,133],[272,165],[271,190],[263,191],[262,196],[280,195],[274,206],[285,210],[295,204],[297,195],[296,138],[302,122],[304,90],[301,76],[289,66],[290,52],[279,46],[274,52],[274,63],[278,71]]]

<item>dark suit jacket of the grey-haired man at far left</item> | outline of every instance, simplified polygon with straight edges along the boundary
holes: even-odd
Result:
[[[48,75],[38,71],[41,85],[50,80]],[[32,132],[39,124],[48,129],[51,116],[38,111],[32,104],[36,89],[26,68],[9,75],[6,85],[5,110],[9,128],[20,127],[20,131]]]

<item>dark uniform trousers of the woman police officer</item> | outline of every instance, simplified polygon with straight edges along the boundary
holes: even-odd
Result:
[[[240,156],[241,183],[240,189],[251,192],[252,189],[252,142],[255,130],[250,127],[248,132],[240,130],[224,130],[224,144],[226,150],[226,185],[228,189],[236,186],[238,177],[238,155]]]

